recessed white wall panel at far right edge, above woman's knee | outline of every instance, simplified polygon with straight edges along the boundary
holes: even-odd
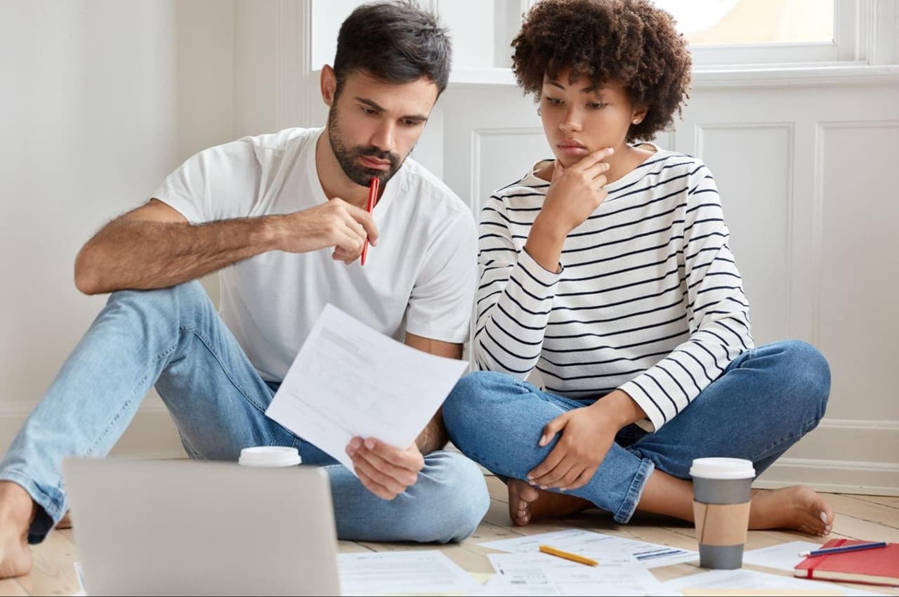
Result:
[[[817,335],[831,360],[834,417],[899,420],[899,120],[822,122]],[[899,458],[899,453],[895,454]]]

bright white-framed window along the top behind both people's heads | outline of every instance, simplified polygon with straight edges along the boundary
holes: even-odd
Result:
[[[287,0],[282,0],[287,1]],[[312,4],[312,64],[334,59],[337,29],[364,0]],[[514,85],[510,42],[539,0],[418,0],[441,13],[455,43],[451,80]],[[651,0],[690,42],[694,70],[893,65],[896,0]]]

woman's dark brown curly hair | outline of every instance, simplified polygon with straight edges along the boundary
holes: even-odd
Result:
[[[654,138],[689,97],[690,51],[669,13],[649,0],[541,0],[512,40],[518,84],[539,100],[543,76],[619,82],[648,107],[628,141]]]

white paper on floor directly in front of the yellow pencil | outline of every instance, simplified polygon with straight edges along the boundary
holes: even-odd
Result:
[[[628,553],[603,554],[584,566],[542,553],[490,554],[496,575],[490,589],[509,594],[647,595],[663,591],[653,573]]]

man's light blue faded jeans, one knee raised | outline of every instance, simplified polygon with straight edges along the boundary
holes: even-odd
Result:
[[[191,458],[236,461],[247,446],[294,446],[327,469],[340,539],[465,539],[489,505],[484,476],[460,454],[424,457],[414,486],[392,501],[265,416],[274,396],[218,316],[199,282],[115,292],[13,440],[0,479],[37,503],[29,541],[67,511],[60,463],[103,456],[125,432],[151,386],[172,414]]]

